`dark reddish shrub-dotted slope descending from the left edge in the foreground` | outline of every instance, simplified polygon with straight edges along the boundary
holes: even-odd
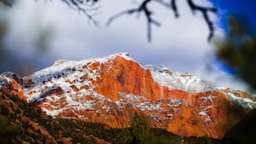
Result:
[[[0,90],[0,143],[109,143],[104,124],[47,116],[39,107]],[[101,137],[98,138],[97,136]],[[111,137],[110,137],[111,136]],[[103,140],[104,138],[105,140]]]

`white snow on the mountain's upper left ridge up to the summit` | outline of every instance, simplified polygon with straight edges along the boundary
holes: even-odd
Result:
[[[101,69],[93,69],[90,66],[96,63],[102,65],[107,61],[113,61],[117,56],[120,56],[125,60],[132,60],[128,53],[118,53],[90,60],[57,60],[53,66],[49,66],[48,68],[44,68],[41,71],[23,78],[26,82],[33,84],[33,87],[29,86],[28,88],[25,88],[27,93],[32,94],[28,96],[27,101],[40,100],[41,95],[44,95],[41,94],[40,89],[61,88],[64,89],[65,92],[70,93],[73,91],[71,87],[74,84],[77,87],[88,85],[91,88],[91,91],[93,91],[93,85],[90,84],[91,82],[89,79],[96,80],[97,77],[100,77],[98,73],[101,72]],[[79,78],[83,78],[86,74],[88,75],[88,81],[79,80]],[[86,92],[88,93],[90,90],[86,90]]]

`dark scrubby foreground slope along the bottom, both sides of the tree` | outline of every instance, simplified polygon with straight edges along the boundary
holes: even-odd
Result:
[[[87,123],[70,118],[52,118],[41,108],[27,104],[17,95],[0,89],[0,143],[1,144],[108,144],[119,141],[121,129],[106,124]],[[166,130],[151,129],[146,143],[151,144],[221,144],[209,137],[180,137]],[[229,144],[225,141],[225,144]],[[230,143],[231,144],[231,143]]]

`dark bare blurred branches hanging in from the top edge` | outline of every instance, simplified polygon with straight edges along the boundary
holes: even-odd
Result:
[[[94,19],[94,14],[89,14],[88,11],[89,9],[84,9],[82,6],[89,6],[92,7],[94,6],[95,3],[98,3],[100,0],[61,0],[64,3],[67,3],[67,5],[71,8],[77,9],[79,11],[82,11],[90,21],[92,21],[95,25],[97,25],[97,21]],[[207,23],[207,26],[209,28],[209,36],[208,36],[208,41],[211,41],[213,37],[213,32],[214,32],[214,26],[212,24],[212,21],[209,18],[208,12],[212,13],[217,13],[217,9],[215,8],[207,8],[203,7],[200,5],[195,4],[192,0],[187,0],[189,8],[192,10],[194,13],[195,11],[201,12],[203,14],[204,20]],[[179,17],[179,13],[177,11],[177,1],[176,0],[143,0],[142,3],[140,3],[137,8],[132,8],[132,9],[126,9],[119,14],[115,14],[112,17],[109,18],[107,25],[109,26],[111,22],[120,16],[124,14],[140,14],[143,13],[147,20],[147,27],[148,27],[148,41],[150,42],[152,39],[152,26],[160,26],[160,22],[155,20],[153,18],[153,9],[150,9],[148,7],[149,4],[151,3],[159,3],[161,6],[165,7],[166,9],[171,9],[175,15],[175,17]],[[97,9],[90,9],[90,10],[97,10]]]

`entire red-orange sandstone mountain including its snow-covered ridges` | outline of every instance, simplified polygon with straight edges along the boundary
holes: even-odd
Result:
[[[221,139],[256,107],[247,93],[213,88],[164,66],[141,66],[125,54],[61,60],[24,78],[2,74],[0,85],[56,118],[124,128],[139,111],[151,127],[183,136]]]

